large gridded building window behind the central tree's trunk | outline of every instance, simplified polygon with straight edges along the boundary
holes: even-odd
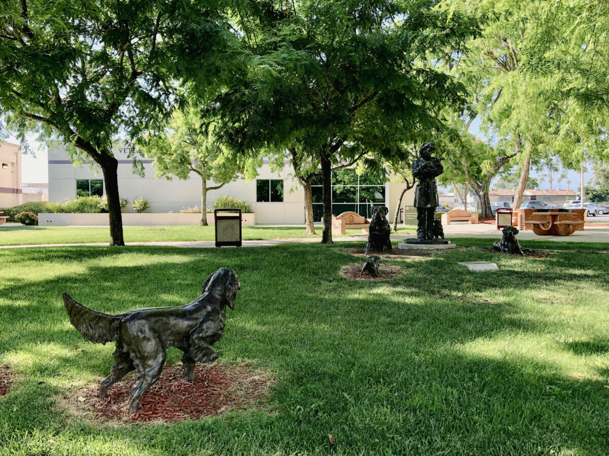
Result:
[[[374,206],[387,206],[384,174],[362,173],[355,170],[338,170],[332,173],[332,213],[351,211],[365,218],[372,216]],[[313,219],[319,222],[323,216],[323,190],[321,179],[311,182]]]

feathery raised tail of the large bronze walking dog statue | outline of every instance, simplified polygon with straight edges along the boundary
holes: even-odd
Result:
[[[73,300],[67,292],[63,292],[63,305],[80,334],[94,344],[105,344],[116,341],[121,329],[121,315],[109,315],[96,312]]]

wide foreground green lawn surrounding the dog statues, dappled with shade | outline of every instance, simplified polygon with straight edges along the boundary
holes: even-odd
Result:
[[[519,258],[460,241],[470,248],[388,261],[403,274],[380,281],[339,275],[363,241],[0,250],[0,364],[18,378],[0,398],[0,454],[606,454],[607,255],[565,243],[577,251]],[[482,260],[500,271],[457,265]],[[114,347],[82,339],[63,291],[107,313],[182,305],[222,266],[242,289],[215,347],[273,373],[272,412],[67,418],[54,397],[108,375]]]

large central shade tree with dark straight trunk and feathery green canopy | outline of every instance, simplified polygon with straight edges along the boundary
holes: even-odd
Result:
[[[452,77],[426,57],[472,30],[435,1],[241,2],[235,33],[248,71],[214,99],[219,136],[234,149],[287,148],[319,166],[322,243],[331,243],[331,170],[368,151],[393,154],[440,126],[461,103]]]

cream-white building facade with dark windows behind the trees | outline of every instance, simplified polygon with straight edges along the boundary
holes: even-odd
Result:
[[[133,201],[146,198],[150,209],[146,212],[180,212],[185,207],[200,206],[201,179],[191,173],[189,179],[171,181],[155,178],[151,159],[143,159],[144,178],[132,172],[132,159],[126,151],[116,148],[114,156],[119,161],[118,187],[123,198]],[[62,201],[76,196],[104,195],[104,181],[100,168],[93,162],[74,165],[62,146],[49,147],[49,201]],[[213,182],[208,186],[213,186]],[[333,213],[347,210],[371,215],[372,206],[389,207],[393,219],[402,185],[384,182],[381,176],[362,174],[354,170],[339,170],[333,175]],[[322,186],[320,179],[313,182],[313,210],[315,221],[322,216]],[[219,190],[207,194],[207,206],[211,208],[219,196],[232,196],[248,202],[256,214],[256,224],[304,224],[305,192],[294,179],[288,161],[280,171],[273,171],[268,162],[258,169],[252,181],[238,179]],[[412,204],[414,189],[404,195],[402,206]]]

